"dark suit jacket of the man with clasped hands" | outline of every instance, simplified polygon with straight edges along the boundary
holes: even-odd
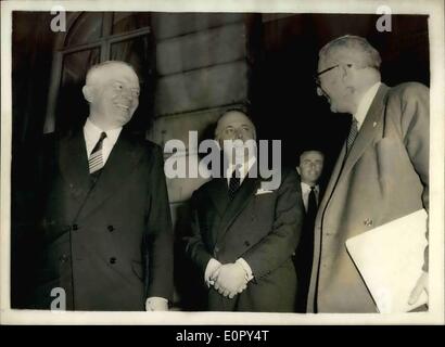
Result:
[[[234,298],[208,290],[212,311],[293,311],[296,277],[291,259],[303,221],[300,181],[283,170],[275,191],[260,193],[262,179],[242,182],[232,202],[226,178],[213,179],[192,196],[193,235],[187,252],[204,273],[215,258],[221,264],[243,258],[254,279]]]

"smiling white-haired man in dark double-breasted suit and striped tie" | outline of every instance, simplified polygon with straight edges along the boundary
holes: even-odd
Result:
[[[56,288],[68,310],[166,310],[173,230],[163,154],[123,129],[138,107],[138,76],[124,62],[105,62],[88,72],[82,92],[84,129],[44,149],[33,307],[50,309]]]

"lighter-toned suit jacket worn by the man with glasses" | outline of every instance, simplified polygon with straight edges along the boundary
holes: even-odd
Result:
[[[376,312],[345,241],[428,209],[428,193],[429,89],[382,83],[349,154],[345,146],[340,153],[317,214],[308,310],[317,298],[319,312]]]

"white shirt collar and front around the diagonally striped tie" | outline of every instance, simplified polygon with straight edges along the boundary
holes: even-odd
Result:
[[[102,160],[103,165],[105,165],[106,160],[109,159],[111,151],[113,150],[114,145],[117,142],[117,139],[119,138],[120,131],[122,127],[103,131],[101,128],[94,125],[88,117],[84,126],[84,137],[88,158],[90,157],[92,150],[98,143],[101,133],[105,132],[106,138],[102,141]]]

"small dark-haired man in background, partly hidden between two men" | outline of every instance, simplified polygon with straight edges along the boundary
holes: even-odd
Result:
[[[296,291],[296,312],[306,312],[307,291],[314,257],[314,223],[320,202],[318,180],[323,169],[325,156],[317,150],[305,150],[300,155],[296,170],[300,175],[305,217],[302,236],[295,250],[294,264],[298,285]]]

